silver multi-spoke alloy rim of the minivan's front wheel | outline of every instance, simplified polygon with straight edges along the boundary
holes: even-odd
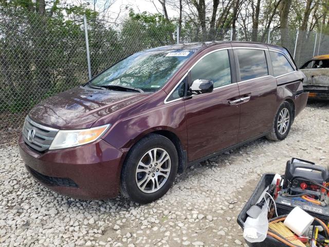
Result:
[[[153,148],[146,152],[138,162],[136,183],[145,193],[153,193],[166,184],[171,168],[168,152],[162,148]]]

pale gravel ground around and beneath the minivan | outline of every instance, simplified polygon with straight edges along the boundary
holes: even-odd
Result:
[[[264,172],[291,157],[329,161],[329,104],[313,103],[282,142],[265,138],[191,167],[162,199],[82,201],[35,182],[16,145],[0,146],[0,246],[239,246],[236,217]]]

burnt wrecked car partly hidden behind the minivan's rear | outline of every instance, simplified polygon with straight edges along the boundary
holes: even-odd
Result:
[[[307,80],[304,90],[309,99],[329,100],[329,55],[312,58],[300,67]]]

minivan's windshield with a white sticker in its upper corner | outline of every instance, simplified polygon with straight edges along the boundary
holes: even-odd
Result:
[[[193,53],[190,49],[138,52],[104,70],[90,84],[129,86],[155,92]]]

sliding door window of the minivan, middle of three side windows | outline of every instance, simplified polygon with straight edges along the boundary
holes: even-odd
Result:
[[[236,49],[235,54],[239,61],[241,81],[268,75],[264,50]]]

